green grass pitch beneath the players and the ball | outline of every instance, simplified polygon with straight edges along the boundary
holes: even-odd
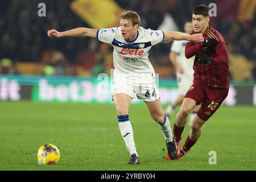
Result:
[[[129,154],[113,105],[22,101],[0,102],[0,110],[0,170],[256,169],[255,107],[220,107],[188,155],[171,161],[163,158],[167,153],[164,137],[146,105],[131,105],[130,121],[141,158],[137,166],[126,164]],[[188,131],[187,124],[182,144]],[[36,154],[46,143],[59,148],[58,164],[38,164]],[[208,163],[209,151],[216,151],[216,165]]]

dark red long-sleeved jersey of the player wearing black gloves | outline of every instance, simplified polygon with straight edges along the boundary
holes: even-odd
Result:
[[[196,34],[194,31],[191,34]],[[212,27],[205,30],[204,39],[215,38],[218,40],[214,48],[203,47],[202,43],[188,42],[185,46],[185,56],[190,58],[201,52],[213,59],[213,64],[199,64],[194,60],[194,80],[201,81],[212,88],[229,88],[229,57],[226,43],[222,35]]]

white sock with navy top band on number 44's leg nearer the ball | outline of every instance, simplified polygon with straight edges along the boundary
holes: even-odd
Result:
[[[133,138],[133,127],[131,127],[129,115],[118,115],[118,126],[128,152],[130,155],[136,154],[138,156]]]

